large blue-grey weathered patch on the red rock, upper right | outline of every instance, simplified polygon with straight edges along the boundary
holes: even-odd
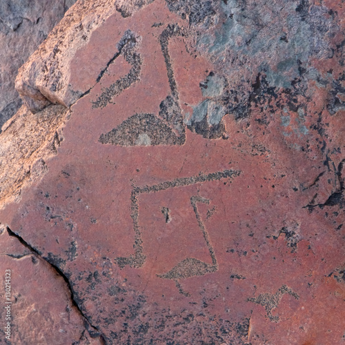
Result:
[[[328,8],[297,0],[282,2],[219,1],[222,24],[197,38],[197,50],[210,55],[217,72],[238,91],[235,103],[248,97],[250,81],[245,86],[242,76],[248,79],[263,72],[270,86],[290,88],[301,70],[309,78],[310,57],[333,56],[330,38],[339,28],[336,17],[327,15]],[[245,66],[251,66],[253,74]]]

